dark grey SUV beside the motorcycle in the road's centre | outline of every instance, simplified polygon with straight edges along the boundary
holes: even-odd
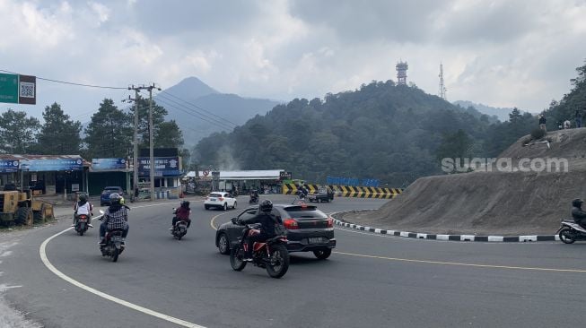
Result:
[[[239,219],[246,220],[258,213],[258,206],[241,212]],[[313,205],[276,204],[272,214],[283,222],[287,236],[289,252],[313,252],[319,259],[327,259],[336,247],[334,237],[334,220]],[[244,226],[232,221],[223,223],[215,231],[215,246],[223,255],[230,254],[230,249],[238,246]]]

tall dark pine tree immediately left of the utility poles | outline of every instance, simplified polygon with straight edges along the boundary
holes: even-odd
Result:
[[[112,99],[104,99],[98,112],[85,128],[89,158],[126,157],[132,147],[132,117],[114,106]]]

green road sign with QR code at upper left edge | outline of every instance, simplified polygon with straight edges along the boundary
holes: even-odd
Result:
[[[0,73],[0,102],[35,105],[37,78],[31,75]]]

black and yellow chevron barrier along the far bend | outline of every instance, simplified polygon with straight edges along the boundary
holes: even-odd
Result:
[[[316,193],[319,185],[306,185],[310,193]],[[338,196],[342,197],[359,197],[359,198],[395,198],[403,192],[400,188],[380,188],[373,186],[329,186]],[[284,184],[283,194],[297,194],[295,184]]]

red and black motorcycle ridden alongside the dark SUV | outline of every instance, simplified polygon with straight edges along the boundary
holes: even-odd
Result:
[[[232,223],[238,224],[236,218]],[[230,252],[230,264],[234,271],[242,271],[246,266],[244,255],[248,244],[245,242],[246,237],[258,235],[260,233],[260,224],[247,225],[244,234],[240,238],[238,247],[232,247]],[[259,268],[267,269],[267,273],[272,278],[281,278],[289,269],[289,252],[287,251],[287,237],[276,236],[268,239],[264,243],[255,242],[252,246],[252,264]]]

